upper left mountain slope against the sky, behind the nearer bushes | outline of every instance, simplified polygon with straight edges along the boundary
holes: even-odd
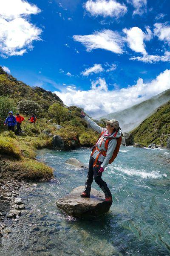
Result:
[[[33,100],[44,110],[48,110],[53,103],[59,102],[63,105],[62,100],[55,93],[40,87],[33,88],[22,81],[18,81],[13,76],[8,75],[2,67],[0,67],[0,96],[9,96],[15,103],[22,99]]]

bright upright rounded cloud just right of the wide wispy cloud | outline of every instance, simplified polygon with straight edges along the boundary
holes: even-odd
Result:
[[[144,40],[149,41],[152,37],[152,32],[149,27],[146,27],[147,33],[144,33],[142,29],[133,27],[130,29],[123,29],[123,32],[127,35],[127,43],[135,52],[141,52],[146,54]]]

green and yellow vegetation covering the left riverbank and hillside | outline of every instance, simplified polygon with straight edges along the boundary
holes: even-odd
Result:
[[[7,131],[3,123],[8,111],[25,117],[21,125],[25,133],[16,136]],[[67,108],[56,94],[17,81],[0,67],[0,178],[51,179],[53,170],[35,159],[35,151],[52,147],[52,135],[60,135],[68,144],[79,137],[82,146],[93,146],[98,134],[80,118],[80,112],[75,106]],[[37,116],[35,124],[28,121],[31,113]]]

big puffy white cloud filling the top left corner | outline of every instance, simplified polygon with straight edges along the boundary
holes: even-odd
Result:
[[[40,9],[22,0],[1,0],[0,51],[3,56],[23,55],[39,41],[41,29],[31,24],[26,17],[37,14]]]

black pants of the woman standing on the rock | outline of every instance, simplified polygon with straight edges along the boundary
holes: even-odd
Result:
[[[88,176],[87,176],[87,180],[86,180],[86,183],[85,183],[84,192],[86,192],[87,194],[90,195],[91,184],[92,184],[93,180],[95,180],[97,185],[99,185],[99,187],[105,193],[105,196],[106,197],[111,197],[112,195],[111,195],[110,189],[108,188],[106,182],[104,180],[102,180],[102,173],[98,172],[102,162],[97,161],[96,166],[93,167],[94,161],[95,161],[94,158],[90,157],[89,166],[88,166]]]

